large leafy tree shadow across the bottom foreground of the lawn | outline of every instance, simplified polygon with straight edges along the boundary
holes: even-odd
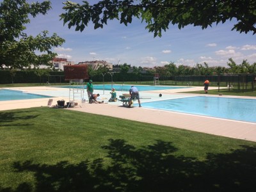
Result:
[[[241,146],[230,154],[209,154],[205,161],[174,156],[172,143],[156,141],[136,148],[109,140],[111,164],[103,159],[54,165],[13,164],[16,172],[35,173],[33,184],[0,191],[255,191],[256,148]]]

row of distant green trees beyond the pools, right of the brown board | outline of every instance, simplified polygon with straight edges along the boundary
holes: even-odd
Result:
[[[154,76],[159,74],[161,80],[167,81],[174,79],[177,76],[225,76],[230,74],[252,74],[256,76],[256,63],[252,65],[248,61],[243,60],[241,64],[237,64],[232,58],[228,60],[228,67],[209,67],[208,63],[196,63],[193,67],[187,65],[175,65],[174,62],[170,62],[164,66],[156,66],[153,68],[142,68],[128,65],[127,63],[115,65],[118,70],[113,72],[116,74],[115,77],[120,77],[122,81],[127,81],[129,77],[133,77],[133,81],[141,81],[143,76]],[[97,69],[89,68],[89,76],[100,76],[101,74],[109,74],[111,71],[105,71],[104,67]],[[109,79],[108,76],[107,79]]]

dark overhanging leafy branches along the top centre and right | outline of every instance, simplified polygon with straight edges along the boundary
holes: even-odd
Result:
[[[90,5],[67,1],[61,14],[64,24],[68,28],[76,27],[76,31],[83,31],[85,26],[93,22],[94,28],[103,28],[108,20],[120,20],[120,24],[132,22],[134,17],[147,24],[146,28],[154,32],[154,36],[161,36],[161,31],[169,28],[170,24],[177,24],[184,28],[189,24],[201,26],[205,29],[212,24],[224,23],[234,19],[233,29],[240,33],[256,33],[256,1],[255,0],[102,0]]]

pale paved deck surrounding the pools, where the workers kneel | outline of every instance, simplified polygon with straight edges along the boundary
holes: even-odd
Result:
[[[68,88],[56,88],[51,86],[43,87],[23,87],[13,88],[15,90],[23,90],[29,93],[37,93],[42,95],[54,96],[52,105],[55,105],[57,100],[64,99],[68,101]],[[147,122],[150,124],[166,125],[169,127],[176,127],[180,129],[187,129],[196,132],[204,132],[207,134],[214,134],[217,136],[225,136],[228,138],[236,138],[240,140],[248,140],[256,142],[256,124],[249,122],[240,122],[235,120],[226,120],[221,118],[212,118],[200,115],[189,115],[186,113],[176,113],[171,111],[161,111],[155,109],[143,108],[143,102],[170,98],[189,97],[195,94],[180,93],[193,90],[202,90],[202,87],[189,87],[186,89],[175,90],[157,90],[140,92],[142,108],[124,108],[122,102],[109,102],[108,104],[79,104],[74,108],[68,108],[68,110],[80,111],[84,113],[93,113],[97,115],[113,116],[117,118],[124,118],[127,120],[135,120],[139,122]],[[210,88],[211,90],[211,88]],[[157,97],[159,93],[163,94],[163,97]],[[110,94],[109,91],[95,90],[95,93],[100,93],[102,100],[108,100]],[[117,92],[117,95],[121,95],[124,92]],[[127,92],[126,92],[127,93]],[[206,95],[207,96],[207,95]],[[221,97],[219,95],[209,95]],[[86,96],[85,96],[86,97]],[[222,96],[223,97],[223,96]],[[237,97],[246,99],[256,99],[255,97]],[[21,109],[21,108],[33,108],[40,106],[47,106],[49,98],[45,99],[33,99],[31,100],[10,100],[0,101],[0,111],[8,109]]]

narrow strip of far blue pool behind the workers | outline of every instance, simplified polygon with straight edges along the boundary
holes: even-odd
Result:
[[[63,88],[69,88],[69,86],[61,86]],[[151,85],[136,85],[139,91],[152,91],[152,90],[173,90],[186,88],[184,86],[151,86]],[[75,86],[75,88],[81,88],[81,86]],[[84,86],[86,88],[86,86]],[[115,88],[116,91],[129,92],[131,85],[127,84],[93,84],[95,90],[111,90]]]

